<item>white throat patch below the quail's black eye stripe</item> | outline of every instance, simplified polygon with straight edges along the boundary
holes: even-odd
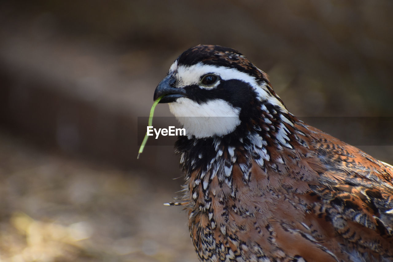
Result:
[[[185,128],[185,135],[196,138],[227,135],[240,124],[240,109],[221,99],[198,104],[178,98],[169,103],[169,110]]]

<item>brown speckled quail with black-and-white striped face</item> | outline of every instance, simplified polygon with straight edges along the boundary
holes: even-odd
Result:
[[[158,98],[186,130],[166,205],[200,261],[393,261],[393,166],[299,120],[237,50],[189,48]]]

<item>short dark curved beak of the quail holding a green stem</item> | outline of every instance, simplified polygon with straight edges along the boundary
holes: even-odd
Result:
[[[153,100],[156,101],[160,96],[164,96],[158,103],[172,103],[180,97],[187,97],[184,88],[173,87],[175,82],[176,80],[171,75],[162,79],[154,91]]]

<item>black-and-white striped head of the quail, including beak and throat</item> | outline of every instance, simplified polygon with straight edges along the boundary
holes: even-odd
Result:
[[[196,138],[228,135],[266,106],[287,113],[263,71],[236,50],[215,45],[181,54],[156,87],[154,100],[160,96]]]

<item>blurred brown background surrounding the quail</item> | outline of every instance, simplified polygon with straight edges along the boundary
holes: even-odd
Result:
[[[185,212],[162,205],[183,181],[173,146],[136,160],[138,117],[197,44],[239,50],[292,113],[393,163],[392,13],[390,0],[2,1],[0,261],[197,261]]]

